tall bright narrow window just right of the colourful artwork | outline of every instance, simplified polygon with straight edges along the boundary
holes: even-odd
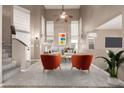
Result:
[[[74,49],[78,49],[78,21],[71,21],[71,45]]]

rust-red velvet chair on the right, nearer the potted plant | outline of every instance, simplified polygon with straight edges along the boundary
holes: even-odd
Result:
[[[90,71],[93,55],[72,55],[72,68]]]

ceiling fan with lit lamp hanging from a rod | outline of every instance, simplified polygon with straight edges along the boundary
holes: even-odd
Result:
[[[55,21],[59,21],[60,19],[63,19],[65,22],[68,22],[68,20],[71,18],[73,18],[73,16],[68,15],[64,10],[64,6],[62,5],[62,12],[61,12],[60,16]]]

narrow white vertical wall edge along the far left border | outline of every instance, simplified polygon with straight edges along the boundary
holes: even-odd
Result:
[[[0,84],[2,83],[2,6],[0,6]]]

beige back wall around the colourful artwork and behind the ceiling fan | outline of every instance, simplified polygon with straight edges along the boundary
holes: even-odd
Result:
[[[69,15],[73,15],[71,21],[79,20],[79,9],[65,9],[66,13]],[[46,21],[55,21],[59,18],[61,13],[60,9],[47,9],[45,12]],[[54,45],[57,47],[65,47],[71,45],[71,21],[64,22],[63,20],[59,20],[54,23]],[[66,45],[58,45],[58,33],[66,33]]]

